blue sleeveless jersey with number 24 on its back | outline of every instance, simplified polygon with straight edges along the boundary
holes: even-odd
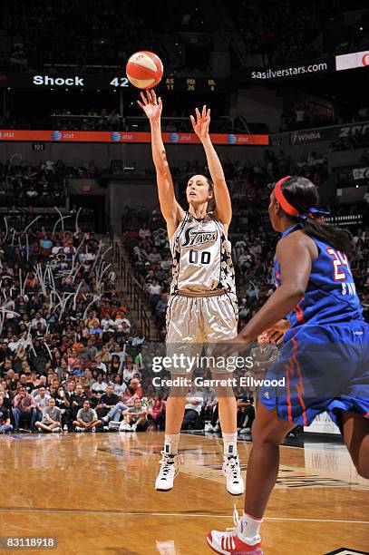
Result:
[[[301,224],[286,229],[282,237]],[[311,237],[316,242],[318,257],[314,260],[306,292],[296,307],[286,316],[291,327],[303,324],[336,324],[352,320],[364,320],[354,286],[354,277],[346,255],[325,242]],[[280,268],[275,258],[274,279],[280,287]]]

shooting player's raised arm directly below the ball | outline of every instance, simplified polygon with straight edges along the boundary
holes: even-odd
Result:
[[[160,119],[162,103],[160,98],[156,98],[155,91],[153,90],[146,91],[146,95],[141,93],[141,98],[142,102],[137,102],[150,120],[152,160],[156,170],[160,209],[164,219],[167,221],[169,232],[170,228],[173,228],[173,233],[183,218],[184,213],[176,200],[170,166],[161,137]]]

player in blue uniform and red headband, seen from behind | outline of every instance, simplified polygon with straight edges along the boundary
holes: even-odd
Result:
[[[369,478],[369,326],[364,322],[347,256],[351,239],[322,222],[316,186],[300,177],[279,180],[269,216],[277,244],[277,290],[232,341],[248,343],[263,330],[284,333],[253,427],[245,512],[231,532],[210,531],[212,550],[261,553],[259,529],[277,480],[279,443],[296,424],[327,412],[339,426],[357,472]],[[282,318],[287,317],[287,320]]]

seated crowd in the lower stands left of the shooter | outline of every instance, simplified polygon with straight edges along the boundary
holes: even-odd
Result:
[[[41,216],[0,233],[0,432],[106,430],[117,405],[116,422],[133,424],[137,399],[144,427],[160,424],[110,248],[77,227],[79,212],[75,229],[45,229]]]

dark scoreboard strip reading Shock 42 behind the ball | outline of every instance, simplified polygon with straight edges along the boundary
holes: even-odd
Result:
[[[133,91],[124,73],[0,73],[2,89],[39,89],[50,91]],[[163,77],[158,90],[173,93],[225,93],[228,79],[214,77]]]

